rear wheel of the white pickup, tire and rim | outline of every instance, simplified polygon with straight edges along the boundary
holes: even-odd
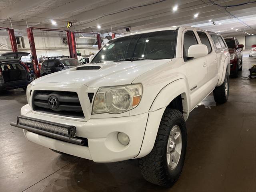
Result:
[[[228,86],[227,93],[226,93],[226,83],[227,83],[227,86]],[[223,103],[226,103],[228,101],[229,77],[228,77],[227,72],[226,72],[224,82],[220,86],[215,87],[215,89],[213,90],[213,96],[214,96],[215,102],[218,103],[218,104],[223,104]]]

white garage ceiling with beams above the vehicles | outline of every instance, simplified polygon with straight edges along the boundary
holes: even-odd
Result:
[[[247,2],[254,3],[244,4]],[[238,4],[243,5],[233,6]],[[178,10],[173,11],[174,6]],[[198,17],[194,18],[196,13]],[[70,30],[83,32],[105,33],[112,29],[125,33],[127,26],[131,31],[140,31],[189,25],[224,35],[242,35],[243,31],[256,34],[256,3],[254,0],[0,0],[2,27],[11,27],[12,23],[16,30],[25,30],[27,26],[67,29],[67,21],[73,22]]]

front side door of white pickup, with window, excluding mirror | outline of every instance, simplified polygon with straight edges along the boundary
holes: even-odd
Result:
[[[183,60],[186,67],[188,85],[191,93],[191,106],[194,108],[204,97],[202,86],[207,82],[207,63],[205,57],[196,59],[188,58],[188,48],[198,44],[196,32],[193,30],[183,31]]]

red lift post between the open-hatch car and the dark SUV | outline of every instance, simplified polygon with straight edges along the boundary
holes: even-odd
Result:
[[[34,74],[35,74],[35,77],[38,78],[38,77],[40,77],[40,73],[39,73],[39,68],[38,68],[38,60],[37,60],[37,56],[36,56],[36,46],[35,46],[35,41],[34,41],[33,28],[31,28],[31,27],[27,28],[27,33],[28,33],[28,42],[30,44],[32,63],[34,66]]]

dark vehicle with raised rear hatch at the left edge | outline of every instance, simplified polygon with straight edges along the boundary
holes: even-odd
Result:
[[[21,62],[26,52],[7,52],[0,55],[0,91],[23,88],[32,82],[29,68]]]

